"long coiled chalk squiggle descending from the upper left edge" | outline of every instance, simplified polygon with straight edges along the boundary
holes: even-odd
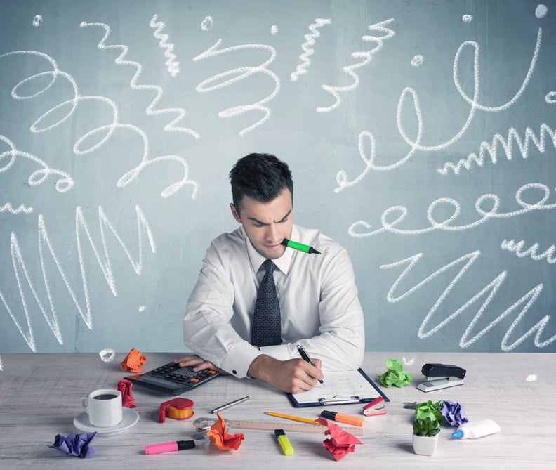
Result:
[[[181,179],[181,181],[177,181],[176,183],[173,183],[169,185],[167,188],[165,188],[161,192],[161,196],[162,197],[171,196],[174,193],[176,193],[178,190],[180,190],[183,187],[183,185],[187,184],[193,186],[194,190],[192,192],[192,199],[195,199],[197,195],[198,185],[197,182],[190,180],[188,177],[189,167],[187,166],[187,162],[185,162],[185,160],[182,157],[179,157],[178,155],[162,155],[151,159],[149,157],[149,140],[147,138],[147,134],[143,131],[143,129],[140,129],[140,127],[138,126],[134,126],[132,124],[121,124],[119,122],[119,110],[116,103],[114,103],[114,101],[110,100],[110,98],[106,98],[105,96],[81,96],[81,94],[79,93],[79,89],[77,88],[77,83],[75,82],[74,78],[70,74],[67,74],[66,72],[60,70],[58,68],[58,64],[55,63],[55,60],[51,58],[51,56],[48,56],[45,53],[41,53],[37,51],[15,51],[15,52],[6,53],[3,56],[0,56],[0,58],[6,56],[18,56],[18,55],[37,56],[39,58],[43,58],[47,60],[48,63],[51,64],[52,70],[49,70],[48,72],[41,72],[38,74],[34,74],[31,77],[27,77],[26,79],[20,81],[20,83],[17,84],[12,90],[11,94],[14,99],[25,100],[25,99],[35,98],[41,95],[41,93],[44,93],[45,91],[50,89],[50,87],[60,77],[67,80],[69,84],[71,84],[73,89],[74,96],[72,98],[51,108],[32,124],[32,126],[30,127],[30,131],[32,133],[46,132],[66,122],[67,119],[69,119],[69,117],[71,117],[74,114],[75,110],[77,109],[77,105],[81,101],[91,100],[93,102],[100,102],[102,104],[108,105],[110,108],[112,108],[112,122],[110,124],[105,124],[96,129],[93,129],[93,131],[89,131],[85,133],[84,136],[81,136],[77,140],[77,142],[74,143],[74,147],[73,147],[74,154],[86,155],[95,150],[98,150],[98,148],[102,147],[102,145],[104,145],[106,141],[108,141],[112,137],[114,132],[119,129],[126,129],[132,131],[133,133],[138,134],[138,136],[140,136],[141,140],[143,141],[143,157],[141,159],[140,164],[138,164],[137,167],[131,169],[126,174],[124,174],[124,176],[121,176],[121,178],[119,178],[119,180],[116,183],[117,187],[123,188],[124,186],[128,185],[129,183],[131,183],[131,181],[135,180],[135,178],[139,176],[139,174],[141,173],[141,171],[143,171],[143,169],[149,167],[152,164],[159,164],[161,162],[177,162],[183,167],[183,178]],[[20,94],[18,93],[20,86],[29,84],[34,80],[44,79],[44,77],[49,77],[51,81],[43,89],[37,91],[37,93],[34,93],[33,95],[30,96],[20,96]],[[64,117],[58,119],[58,121],[53,122],[53,124],[48,125],[48,122],[44,124],[44,121],[48,121],[48,118],[50,118],[51,115],[56,115],[57,112],[59,112],[60,110],[65,110],[66,108],[69,108],[69,110],[67,110],[67,114]],[[43,125],[44,127],[39,127],[39,124]],[[105,136],[102,137],[100,141],[98,141],[97,143],[93,143],[88,148],[81,149],[81,146],[84,145],[87,139],[96,136],[97,134],[100,134],[102,136],[102,133],[105,133]],[[48,176],[48,174],[46,174],[46,176]]]

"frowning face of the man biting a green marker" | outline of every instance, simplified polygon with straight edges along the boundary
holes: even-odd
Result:
[[[284,188],[270,202],[258,202],[244,196],[238,214],[234,204],[230,204],[232,214],[243,224],[247,237],[257,252],[266,259],[276,259],[284,254],[286,247],[280,244],[291,237],[292,202],[289,189]]]

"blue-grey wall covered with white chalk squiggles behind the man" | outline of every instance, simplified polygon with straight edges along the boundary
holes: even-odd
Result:
[[[556,1],[1,0],[0,37],[0,353],[186,351],[249,152],[367,351],[556,352]]]

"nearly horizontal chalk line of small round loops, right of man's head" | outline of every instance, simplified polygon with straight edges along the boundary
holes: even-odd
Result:
[[[540,190],[542,193],[542,197],[535,202],[534,204],[529,204],[529,202],[525,202],[522,195],[524,192],[528,190]],[[446,230],[446,231],[460,231],[460,230],[470,230],[471,228],[475,228],[477,226],[482,225],[491,219],[497,218],[511,218],[521,216],[523,214],[527,214],[531,211],[546,211],[556,209],[556,203],[553,204],[545,204],[545,202],[550,197],[550,189],[548,186],[543,185],[541,183],[528,183],[523,185],[519,190],[517,190],[515,194],[515,201],[522,209],[513,212],[501,212],[498,213],[498,207],[500,207],[500,198],[495,194],[484,194],[479,197],[475,201],[475,211],[477,214],[482,218],[479,220],[468,223],[462,226],[452,226],[451,223],[454,223],[458,216],[460,215],[461,207],[460,204],[449,197],[440,197],[439,199],[431,202],[430,206],[427,209],[427,220],[430,223],[428,228],[421,228],[416,230],[404,230],[402,228],[396,228],[399,223],[401,223],[404,218],[406,218],[408,214],[408,210],[404,206],[392,206],[386,209],[382,216],[380,217],[380,221],[382,222],[382,227],[378,228],[377,230],[373,231],[366,231],[362,232],[359,229],[369,230],[371,226],[369,223],[365,221],[357,221],[352,223],[350,228],[348,229],[348,233],[352,237],[361,238],[361,237],[371,237],[373,235],[378,235],[379,233],[395,233],[397,235],[421,235],[423,233],[430,233],[435,230]],[[486,204],[490,204],[490,208],[484,209],[483,206]],[[446,217],[443,221],[437,221],[433,212],[437,207],[440,207],[441,204],[448,204],[454,210],[452,214]],[[390,214],[397,214],[395,220],[388,221],[388,217]]]

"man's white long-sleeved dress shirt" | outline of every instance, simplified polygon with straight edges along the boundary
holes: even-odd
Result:
[[[211,243],[183,318],[185,345],[220,369],[243,378],[261,353],[279,360],[299,358],[302,344],[326,370],[360,367],[364,355],[363,311],[348,252],[319,230],[293,226],[291,240],[322,254],[286,248],[274,282],[282,316],[282,344],[250,344],[251,320],[265,258],[243,226]]]

